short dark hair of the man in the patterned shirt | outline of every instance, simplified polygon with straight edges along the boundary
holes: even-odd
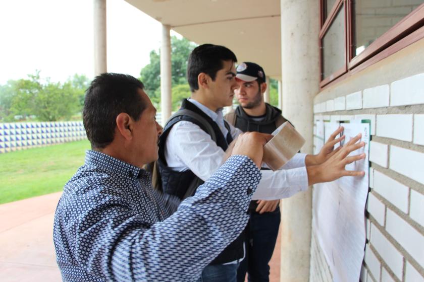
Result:
[[[129,75],[105,73],[94,78],[85,93],[82,114],[92,149],[103,149],[113,142],[118,114],[140,118],[146,108],[138,94],[143,88],[141,81]]]

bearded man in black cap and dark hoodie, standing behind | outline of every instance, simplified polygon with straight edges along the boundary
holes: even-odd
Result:
[[[242,131],[272,133],[287,121],[281,110],[265,103],[267,90],[263,68],[253,62],[237,66],[235,90],[240,105],[225,118]],[[274,251],[280,226],[279,200],[252,200],[249,205],[250,220],[245,230],[246,257],[240,263],[237,280],[244,281],[246,271],[249,281],[269,281],[268,265]]]

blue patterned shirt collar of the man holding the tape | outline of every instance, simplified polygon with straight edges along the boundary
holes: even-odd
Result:
[[[85,152],[85,165],[126,175],[132,179],[137,179],[147,174],[144,169],[93,150],[87,150]]]

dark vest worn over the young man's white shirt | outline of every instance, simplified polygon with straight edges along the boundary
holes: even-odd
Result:
[[[227,150],[228,144],[230,144],[233,140],[230,132],[228,132],[227,136],[224,137],[224,134],[222,133],[218,124],[186,99],[183,100],[181,109],[188,109],[201,115],[214,129],[217,137],[217,145],[221,147],[222,150]],[[206,128],[204,128],[200,122],[190,116],[177,116],[169,120],[159,140],[159,159],[157,160],[162,178],[163,191],[165,193],[175,195],[180,199],[183,198],[188,186],[196,177],[196,175],[194,175],[191,170],[178,172],[170,169],[165,159],[165,145],[171,128],[174,126],[174,124],[183,120],[190,121],[198,125],[205,132],[207,132]],[[216,257],[210,264],[223,264],[237,259],[241,259],[243,257],[243,241],[244,236],[243,233],[241,233],[240,236],[236,240],[234,240],[230,245],[228,245],[227,248],[225,248],[224,251],[222,251],[221,254],[219,254],[218,257]]]

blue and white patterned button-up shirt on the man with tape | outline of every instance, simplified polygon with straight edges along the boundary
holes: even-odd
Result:
[[[244,229],[259,180],[249,158],[233,156],[173,213],[147,172],[87,151],[56,209],[63,280],[197,280]]]

